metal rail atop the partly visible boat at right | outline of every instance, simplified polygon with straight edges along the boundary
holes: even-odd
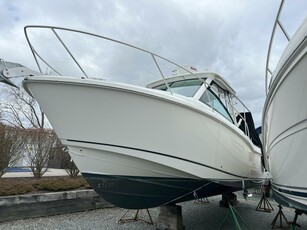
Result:
[[[268,48],[268,54],[267,54],[266,65],[265,65],[265,93],[266,94],[268,94],[268,89],[269,89],[268,73],[271,76],[270,81],[272,80],[272,75],[273,75],[273,72],[269,68],[269,62],[270,62],[271,49],[272,49],[272,44],[273,44],[273,40],[274,40],[274,37],[275,37],[277,26],[281,29],[281,31],[283,32],[283,34],[285,35],[287,40],[290,41],[290,37],[289,37],[288,33],[286,32],[284,26],[282,25],[282,23],[279,20],[280,13],[282,11],[282,7],[283,7],[284,2],[285,2],[285,0],[281,0],[281,2],[280,2],[280,6],[279,6],[279,9],[278,9],[276,18],[275,18],[275,22],[274,22],[274,26],[273,26],[273,30],[272,30],[272,34],[271,34],[271,38],[270,38],[269,48]]]

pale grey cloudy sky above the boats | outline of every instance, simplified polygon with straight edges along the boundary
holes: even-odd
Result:
[[[181,65],[217,72],[228,80],[252,111],[256,125],[260,125],[266,55],[279,3],[279,0],[0,0],[0,58],[37,70],[23,31],[26,25],[52,25],[96,33]],[[290,35],[307,16],[306,9],[304,0],[285,3],[282,21]],[[279,36],[276,41],[273,61],[278,60],[285,44]],[[66,63],[59,61],[51,44],[43,40],[38,46],[45,54],[54,55],[50,60],[58,65]],[[109,52],[110,58],[105,54],[98,58],[100,48],[92,42],[86,44],[95,58],[84,58],[84,49],[76,44],[77,56],[83,57],[81,62],[90,74],[107,63],[111,66],[109,71],[104,67],[101,73],[110,76],[113,71],[130,79],[131,74],[122,74],[129,72],[123,64],[127,59],[135,62],[130,67],[147,65],[143,58],[130,53],[128,58],[117,52]],[[139,76],[132,80],[138,81],[143,80]]]

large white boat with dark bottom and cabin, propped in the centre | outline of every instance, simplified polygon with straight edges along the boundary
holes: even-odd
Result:
[[[156,64],[162,58],[128,46]],[[116,206],[150,208],[260,185],[266,174],[254,143],[261,144],[235,91],[216,73],[175,65],[173,76],[147,87],[46,75],[26,77],[23,87],[91,187]]]

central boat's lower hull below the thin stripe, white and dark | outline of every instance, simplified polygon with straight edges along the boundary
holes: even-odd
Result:
[[[72,142],[64,143],[70,146],[70,155],[83,169],[82,175],[90,186],[105,200],[122,208],[157,207],[238,191],[243,187],[242,180],[245,188],[258,186],[261,182],[259,178],[229,179],[227,174],[218,179],[200,178],[178,166],[184,165],[207,175],[213,175],[216,169],[140,149]]]

